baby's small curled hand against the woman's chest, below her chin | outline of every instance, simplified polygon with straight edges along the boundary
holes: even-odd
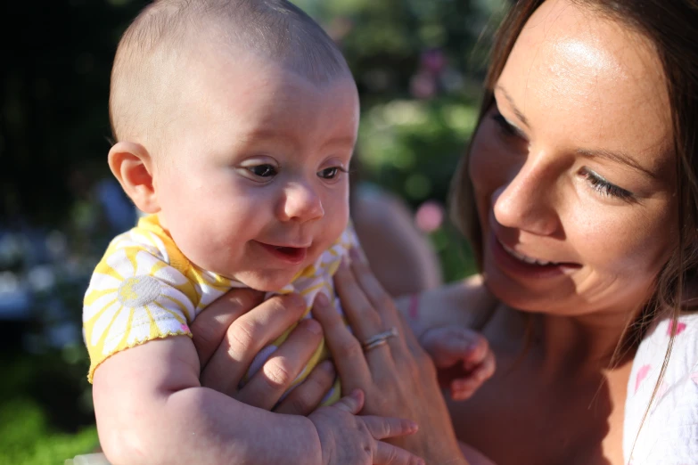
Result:
[[[456,326],[426,330],[420,338],[439,369],[441,387],[451,398],[465,400],[495,372],[495,355],[479,333]]]

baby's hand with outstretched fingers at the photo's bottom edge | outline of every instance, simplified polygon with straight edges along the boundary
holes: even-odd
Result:
[[[363,405],[364,393],[357,389],[308,416],[320,436],[323,465],[424,465],[416,455],[381,441],[414,434],[414,421],[357,416]]]

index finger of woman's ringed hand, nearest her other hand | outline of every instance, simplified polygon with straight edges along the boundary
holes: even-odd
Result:
[[[371,371],[361,344],[323,293],[318,293],[315,299],[313,318],[323,326],[324,342],[333,355],[334,366],[342,379],[342,388],[350,389],[352,386],[349,383],[353,386],[368,386]]]

